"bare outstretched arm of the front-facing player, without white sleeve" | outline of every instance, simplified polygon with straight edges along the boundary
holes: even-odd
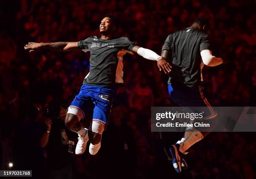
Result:
[[[36,42],[28,42],[24,46],[25,50],[35,51],[39,49],[50,49],[53,51],[80,51],[77,42],[53,42],[53,43],[36,43]]]

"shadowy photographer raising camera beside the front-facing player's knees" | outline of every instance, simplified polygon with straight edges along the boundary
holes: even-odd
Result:
[[[44,108],[46,130],[41,136],[41,147],[47,151],[46,168],[49,179],[71,179],[74,158],[74,133],[67,130],[64,120],[67,111],[58,105]]]

